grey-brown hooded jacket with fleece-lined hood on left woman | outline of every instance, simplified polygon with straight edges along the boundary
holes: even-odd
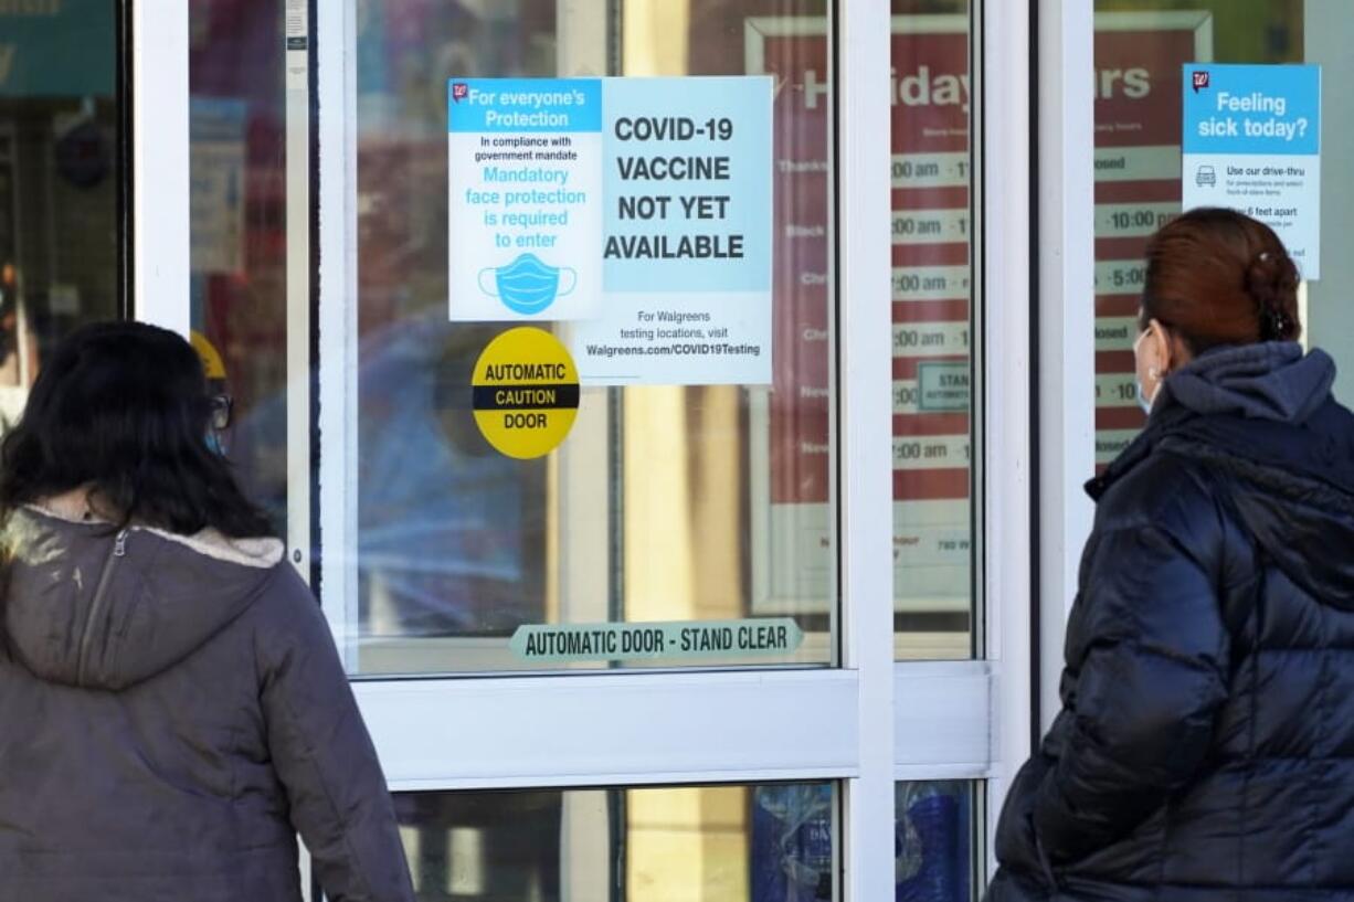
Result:
[[[23,509],[5,535],[0,899],[299,902],[299,830],[329,899],[412,901],[371,739],[280,544],[70,516]]]

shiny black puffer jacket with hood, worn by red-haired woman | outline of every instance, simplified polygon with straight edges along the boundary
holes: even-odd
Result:
[[[1354,899],[1354,416],[1296,344],[1206,353],[1089,489],[1063,710],[991,902]]]

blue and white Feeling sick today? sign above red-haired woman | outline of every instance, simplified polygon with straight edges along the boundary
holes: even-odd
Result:
[[[1320,66],[1186,64],[1183,91],[1183,207],[1255,217],[1319,279]]]

